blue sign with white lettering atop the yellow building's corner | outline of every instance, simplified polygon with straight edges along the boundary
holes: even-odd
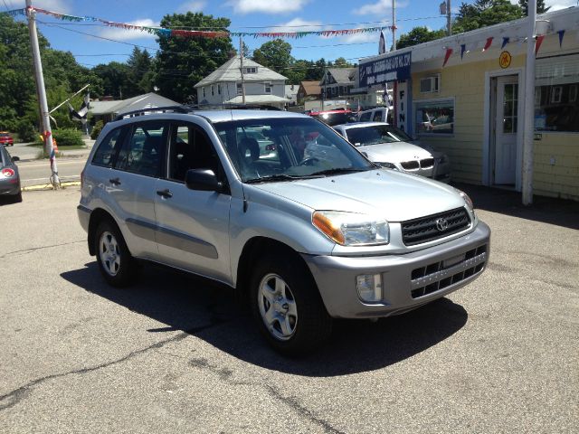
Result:
[[[394,54],[377,61],[368,61],[358,66],[360,73],[360,87],[383,84],[388,81],[402,81],[410,79],[410,64],[412,52]]]

